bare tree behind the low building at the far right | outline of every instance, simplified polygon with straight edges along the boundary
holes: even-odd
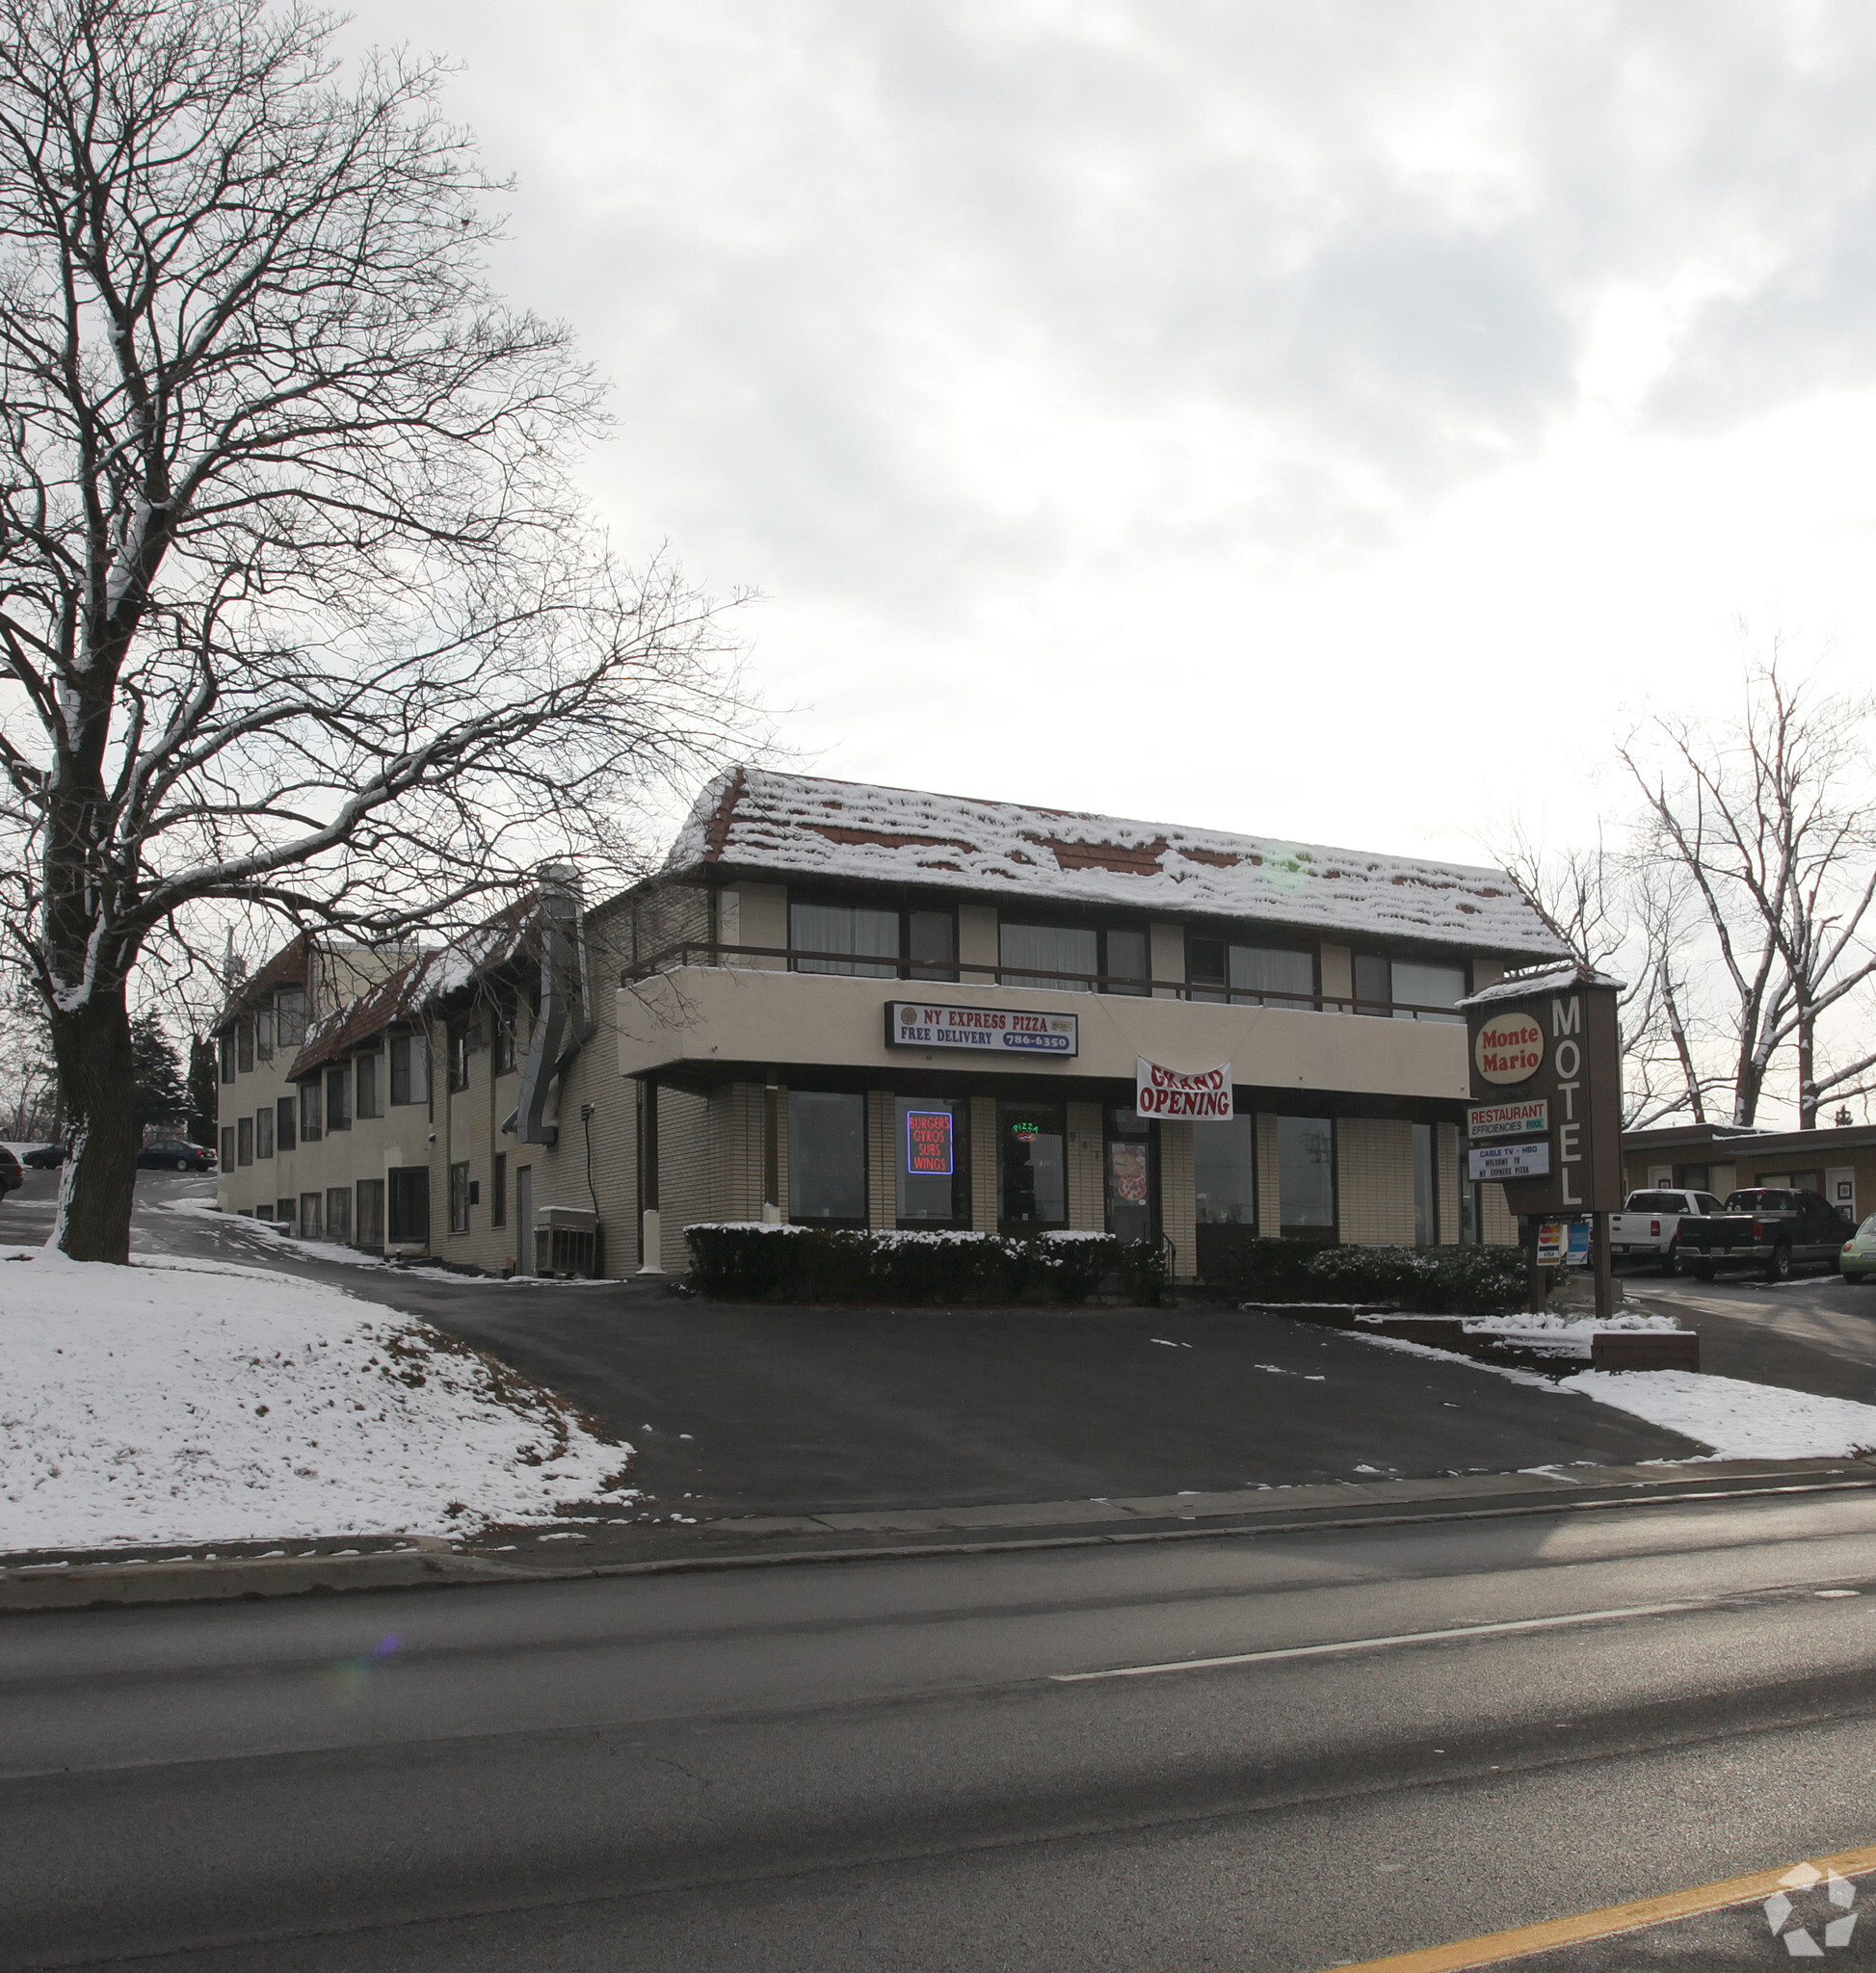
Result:
[[[1819,1069],[1819,1026],[1876,975],[1876,805],[1860,698],[1791,683],[1781,655],[1724,728],[1663,716],[1623,746],[1647,803],[1643,854],[1675,872],[1724,981],[1730,1121],[1758,1117],[1773,1060],[1797,1063],[1799,1127],[1862,1093],[1876,1056]],[[1714,967],[1708,967],[1714,973]]]

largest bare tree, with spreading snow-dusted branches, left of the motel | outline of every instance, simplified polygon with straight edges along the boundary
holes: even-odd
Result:
[[[79,1259],[128,1253],[158,945],[229,906],[389,937],[546,852],[631,866],[647,791],[732,740],[714,610],[584,517],[600,393],[485,284],[440,71],[341,87],[331,26],[0,0],[0,912]]]

